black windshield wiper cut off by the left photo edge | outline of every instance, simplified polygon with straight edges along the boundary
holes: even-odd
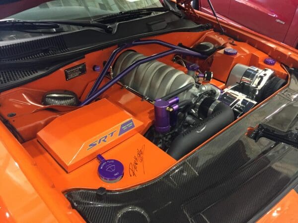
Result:
[[[113,32],[113,27],[92,20],[37,20],[22,21],[15,19],[0,20],[0,30],[37,30],[37,29],[57,29],[60,25],[74,25],[82,27],[101,28],[107,33]]]

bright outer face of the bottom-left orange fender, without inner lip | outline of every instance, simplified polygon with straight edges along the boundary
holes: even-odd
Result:
[[[1,141],[0,178],[0,223],[29,223],[32,216],[58,222]]]

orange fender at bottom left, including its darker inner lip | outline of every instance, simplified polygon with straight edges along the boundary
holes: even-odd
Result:
[[[2,123],[0,132],[0,222],[84,222]]]

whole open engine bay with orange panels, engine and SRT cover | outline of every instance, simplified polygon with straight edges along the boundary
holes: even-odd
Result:
[[[214,31],[171,33],[148,40],[204,56],[174,52],[137,65],[96,100],[84,104],[98,73],[117,49],[114,46],[0,94],[6,126],[59,190],[119,190],[149,181],[289,81],[278,61]],[[156,44],[122,49],[98,89],[134,62],[167,50]],[[85,73],[80,73],[84,66]],[[74,77],[66,78],[67,72]],[[113,183],[99,177],[97,168],[103,161],[96,160],[98,154],[120,161],[123,177]]]

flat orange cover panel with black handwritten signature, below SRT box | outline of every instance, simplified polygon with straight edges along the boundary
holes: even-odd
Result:
[[[116,159],[124,166],[123,178],[115,183],[107,183],[98,176],[99,161],[95,158],[67,173],[59,167],[59,164],[36,139],[22,145],[32,157],[35,157],[36,165],[45,172],[55,188],[60,191],[72,188],[97,189],[99,187],[105,187],[109,190],[122,190],[154,179],[177,162],[143,135],[137,133],[102,154],[106,160]]]

